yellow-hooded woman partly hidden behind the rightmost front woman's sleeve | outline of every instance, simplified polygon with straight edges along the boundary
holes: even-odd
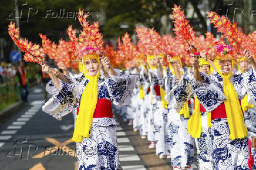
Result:
[[[198,59],[200,72],[210,74],[213,72],[214,63],[208,63],[203,58]],[[194,75],[193,75],[194,76]],[[195,138],[197,147],[198,169],[213,169],[213,145],[211,144],[210,113],[194,97],[194,111],[187,123],[188,133]]]

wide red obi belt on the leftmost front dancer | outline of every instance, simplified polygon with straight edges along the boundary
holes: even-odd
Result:
[[[79,103],[80,106],[80,103]],[[79,113],[79,107],[76,108],[76,114]],[[112,113],[112,104],[110,100],[107,100],[106,98],[98,98],[95,111],[93,113],[93,118],[103,118],[103,117],[109,117],[113,118]]]

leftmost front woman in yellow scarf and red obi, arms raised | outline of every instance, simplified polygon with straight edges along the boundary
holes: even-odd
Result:
[[[107,57],[101,59],[105,72],[100,74],[99,56],[83,57],[83,76],[80,79],[62,77],[59,81],[48,66],[53,97],[45,103],[43,111],[58,120],[79,106],[72,140],[76,142],[79,169],[119,169],[116,121],[112,101],[122,106],[129,103],[136,76],[117,74]],[[103,76],[104,75],[104,76]],[[66,82],[66,83],[65,83]]]

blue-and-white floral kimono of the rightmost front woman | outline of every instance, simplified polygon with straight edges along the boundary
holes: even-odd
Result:
[[[212,112],[226,99],[223,93],[223,79],[218,73],[213,76],[201,73],[204,83],[195,81],[194,93],[203,107]],[[248,93],[248,102],[255,104],[256,79],[255,72],[237,74],[230,78],[237,92],[238,99],[244,98]],[[212,115],[213,116],[213,115]],[[230,128],[227,118],[211,120],[211,139],[213,144],[214,169],[248,169],[248,138],[230,140]]]

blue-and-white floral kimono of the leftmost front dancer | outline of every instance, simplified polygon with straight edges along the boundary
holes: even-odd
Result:
[[[48,83],[48,91],[53,97],[43,106],[43,111],[58,120],[70,113],[78,106],[83,90],[89,82],[85,76],[80,79],[70,79],[71,84],[60,83],[57,91],[52,81]],[[118,106],[128,104],[136,84],[136,76],[111,76],[105,79],[101,74],[97,81],[99,100],[111,101]],[[97,106],[96,106],[97,109]],[[112,114],[112,109],[108,110]],[[89,138],[83,138],[82,142],[76,142],[76,153],[79,169],[119,169],[119,151],[117,148],[116,121],[113,115],[93,118]]]

